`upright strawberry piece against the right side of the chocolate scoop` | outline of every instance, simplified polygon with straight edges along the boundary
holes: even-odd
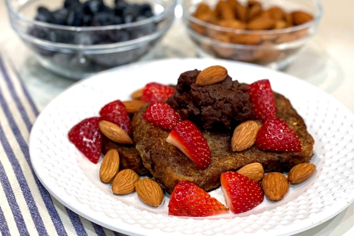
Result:
[[[253,105],[253,115],[258,120],[275,116],[275,101],[269,80],[259,80],[249,85],[247,93]]]

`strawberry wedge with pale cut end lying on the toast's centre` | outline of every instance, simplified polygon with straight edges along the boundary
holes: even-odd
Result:
[[[211,152],[208,143],[198,127],[189,120],[173,128],[166,141],[175,145],[200,169],[206,169],[210,165]]]

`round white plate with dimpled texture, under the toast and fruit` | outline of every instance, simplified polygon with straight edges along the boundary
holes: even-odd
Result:
[[[97,165],[87,160],[67,138],[80,120],[97,116],[100,108],[148,82],[175,84],[180,73],[223,65],[233,79],[251,83],[268,78],[305,119],[315,139],[311,162],[316,172],[291,185],[283,200],[267,198],[251,211],[210,218],[168,216],[169,198],[158,208],[144,205],[136,193],[113,195],[99,181]],[[129,235],[290,235],[335,216],[354,198],[354,116],[328,94],[295,77],[263,67],[214,59],[173,59],[136,63],[97,74],[64,91],[39,115],[30,136],[30,157],[45,188],[72,211],[99,225]],[[224,203],[221,190],[211,195]]]

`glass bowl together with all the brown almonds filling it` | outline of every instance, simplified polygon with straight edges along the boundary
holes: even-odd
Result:
[[[284,69],[315,34],[318,0],[184,0],[183,20],[199,53]]]

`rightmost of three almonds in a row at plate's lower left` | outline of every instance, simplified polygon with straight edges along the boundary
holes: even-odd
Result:
[[[140,200],[152,207],[160,206],[162,200],[164,200],[164,192],[153,179],[140,179],[135,184],[135,190]]]

